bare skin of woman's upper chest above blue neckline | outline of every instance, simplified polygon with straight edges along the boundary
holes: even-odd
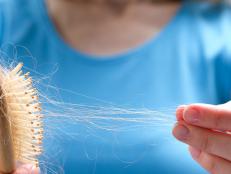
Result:
[[[46,2],[56,29],[68,45],[87,54],[112,55],[155,36],[180,7],[177,2],[129,1],[131,3],[122,11],[108,6],[107,0],[101,3],[97,3],[98,0],[91,0],[91,3],[82,0]]]

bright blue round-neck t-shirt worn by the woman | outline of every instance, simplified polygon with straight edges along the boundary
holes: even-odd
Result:
[[[179,104],[230,100],[231,10],[223,5],[185,3],[146,43],[99,57],[65,43],[43,0],[0,0],[0,43],[2,59],[22,60],[32,73],[48,74],[40,85],[44,93],[47,86],[58,87],[50,95],[80,106],[173,111]],[[48,173],[206,173],[172,137],[171,127],[114,132],[73,122],[45,122],[41,165]]]

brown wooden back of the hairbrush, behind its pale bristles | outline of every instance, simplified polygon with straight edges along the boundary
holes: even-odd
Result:
[[[12,173],[14,169],[15,159],[10,120],[7,118],[7,106],[0,87],[0,172]]]

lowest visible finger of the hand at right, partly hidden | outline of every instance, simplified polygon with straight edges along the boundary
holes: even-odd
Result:
[[[189,147],[189,151],[195,161],[212,174],[230,174],[231,163],[225,159],[203,152],[194,147]]]

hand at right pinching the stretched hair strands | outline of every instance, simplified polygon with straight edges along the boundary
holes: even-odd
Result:
[[[180,106],[173,135],[188,144],[194,160],[212,174],[231,173],[231,102]]]

